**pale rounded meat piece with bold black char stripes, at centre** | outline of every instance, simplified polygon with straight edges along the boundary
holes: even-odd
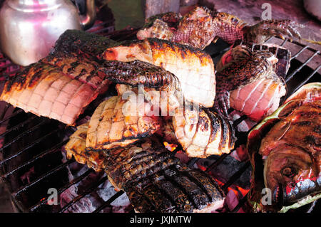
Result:
[[[208,109],[188,105],[175,111],[173,128],[188,157],[205,158],[229,153],[234,147],[233,127]]]

